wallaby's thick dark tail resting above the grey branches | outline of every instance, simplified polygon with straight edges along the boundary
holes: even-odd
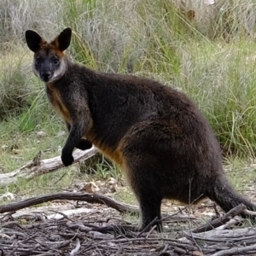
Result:
[[[256,211],[256,206],[247,201],[241,195],[238,195],[231,187],[226,177],[221,177],[216,180],[216,183],[213,186],[212,191],[209,191],[208,196],[212,201],[216,201],[224,212],[229,212],[232,208],[241,203],[244,204],[248,210]]]

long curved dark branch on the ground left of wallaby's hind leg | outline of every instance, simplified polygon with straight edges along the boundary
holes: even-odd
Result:
[[[74,200],[74,201],[87,201],[89,203],[98,203],[111,207],[119,212],[138,213],[138,207],[125,204],[123,202],[115,201],[105,195],[80,193],[80,192],[61,192],[51,195],[44,195],[26,199],[24,201],[17,201],[7,205],[0,206],[0,213],[15,212],[25,207],[32,207],[48,201],[54,200]]]

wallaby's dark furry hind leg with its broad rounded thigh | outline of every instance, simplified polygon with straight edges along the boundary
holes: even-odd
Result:
[[[177,126],[172,120],[143,120],[131,127],[119,145],[125,159],[125,177],[139,202],[141,230],[154,218],[160,220],[160,206],[164,197],[175,198],[174,195],[179,195],[179,190],[183,189],[183,183],[177,184],[178,177],[181,175],[180,179],[183,178],[183,170],[177,172],[180,169],[177,166],[180,166],[179,159],[183,159],[185,154],[177,154],[177,146],[181,148],[180,151],[183,150]],[[159,222],[157,229],[161,228]]]

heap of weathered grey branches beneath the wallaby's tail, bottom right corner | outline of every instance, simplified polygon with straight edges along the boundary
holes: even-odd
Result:
[[[245,209],[246,207],[241,204],[209,224],[192,231],[185,231],[184,234],[191,241],[212,250],[211,255],[249,255],[252,253],[255,255],[255,227],[230,229],[232,224],[241,223],[241,218],[238,218],[237,215],[241,213],[246,213],[249,216],[255,215],[254,212],[245,211]],[[229,229],[227,230],[227,228]]]

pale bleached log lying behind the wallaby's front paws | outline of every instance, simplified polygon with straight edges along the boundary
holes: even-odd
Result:
[[[87,160],[98,152],[98,149],[92,147],[88,150],[76,149],[73,151],[73,163],[77,163],[80,160]],[[19,178],[25,178],[27,180],[32,179],[49,172],[55,172],[56,170],[64,167],[61,161],[61,156],[55,156],[46,160],[34,159],[25,166],[21,166],[13,172],[7,172],[0,174],[0,186],[6,186],[11,183],[15,183]]]

